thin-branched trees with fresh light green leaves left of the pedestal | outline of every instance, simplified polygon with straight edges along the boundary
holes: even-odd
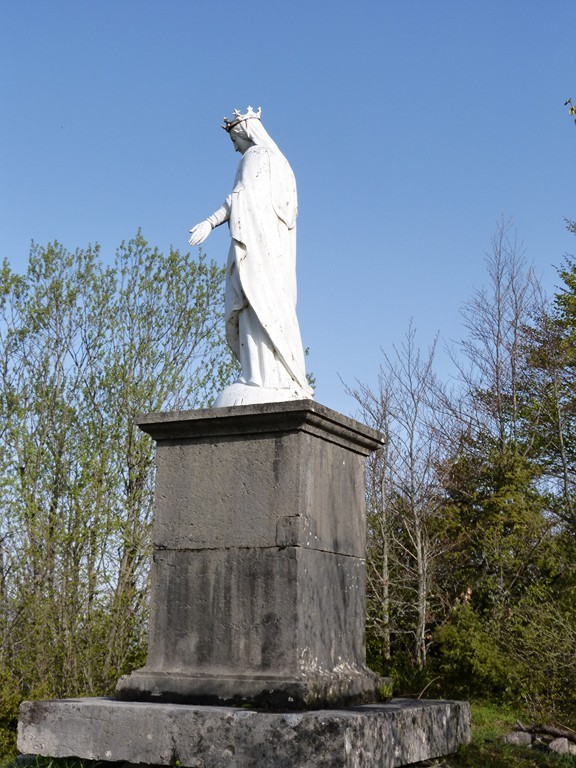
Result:
[[[138,234],[110,267],[34,246],[0,285],[0,698],[110,692],[147,619],[153,445],[134,418],[228,383],[223,270]]]

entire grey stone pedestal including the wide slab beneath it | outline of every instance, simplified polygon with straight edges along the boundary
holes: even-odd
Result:
[[[24,702],[22,752],[396,768],[469,740],[464,703],[372,703],[384,681],[364,655],[364,460],[378,433],[308,400],[139,425],[157,442],[147,665],[117,699]]]

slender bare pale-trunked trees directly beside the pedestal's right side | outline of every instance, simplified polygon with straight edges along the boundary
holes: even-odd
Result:
[[[411,325],[394,357],[384,356],[378,389],[349,388],[363,420],[386,436],[385,447],[368,463],[367,482],[367,627],[384,671],[394,654],[402,657],[400,665],[410,659],[423,669],[430,644],[434,568],[445,546],[437,532],[443,449],[433,359],[434,347],[426,355],[417,348]]]

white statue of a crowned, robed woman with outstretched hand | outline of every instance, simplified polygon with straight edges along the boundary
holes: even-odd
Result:
[[[242,154],[232,194],[190,230],[202,243],[225,221],[232,242],[226,267],[226,338],[241,376],[215,405],[311,398],[296,318],[296,216],[292,169],[260,121],[261,109],[234,111],[222,126]]]

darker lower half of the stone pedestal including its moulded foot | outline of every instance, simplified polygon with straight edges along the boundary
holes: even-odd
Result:
[[[154,601],[148,662],[120,682],[123,698],[267,708],[380,700],[383,681],[363,663],[357,558],[287,547],[154,560],[156,589],[170,599]]]

